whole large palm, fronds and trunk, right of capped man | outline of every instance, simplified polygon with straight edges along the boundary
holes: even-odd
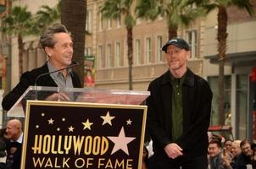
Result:
[[[201,5],[207,9],[208,13],[214,9],[218,10],[218,60],[219,60],[219,77],[218,77],[218,88],[219,88],[219,124],[225,124],[225,112],[224,112],[224,65],[225,65],[225,52],[226,52],[226,39],[227,33],[227,20],[228,15],[226,9],[231,6],[236,6],[240,9],[246,9],[248,14],[253,14],[253,5],[250,0],[192,0],[193,3]]]

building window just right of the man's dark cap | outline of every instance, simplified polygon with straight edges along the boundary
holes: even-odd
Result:
[[[191,49],[191,58],[198,58],[198,33],[197,30],[186,31],[186,41]]]

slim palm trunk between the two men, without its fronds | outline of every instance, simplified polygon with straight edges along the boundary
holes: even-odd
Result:
[[[132,90],[132,27],[127,30],[128,64],[129,64],[129,90]]]

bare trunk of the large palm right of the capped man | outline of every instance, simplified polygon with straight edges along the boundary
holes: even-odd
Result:
[[[225,112],[224,112],[224,66],[225,66],[225,51],[226,51],[226,39],[227,39],[227,13],[225,7],[219,6],[218,12],[218,59],[219,59],[219,124],[225,124]]]

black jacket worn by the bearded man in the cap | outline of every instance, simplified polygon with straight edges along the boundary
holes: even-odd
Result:
[[[148,90],[147,98],[147,131],[153,139],[153,151],[167,156],[164,147],[172,140],[172,85],[170,71],[154,79]],[[206,80],[187,70],[182,85],[183,134],[176,140],[184,155],[206,155],[212,91]]]

